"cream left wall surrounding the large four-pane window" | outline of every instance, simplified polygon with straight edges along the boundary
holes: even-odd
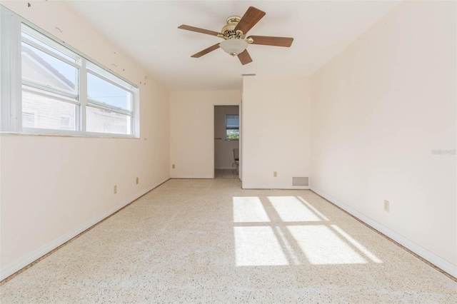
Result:
[[[136,83],[141,108],[139,139],[0,135],[5,278],[166,181],[170,134],[169,92],[63,4],[1,4]]]

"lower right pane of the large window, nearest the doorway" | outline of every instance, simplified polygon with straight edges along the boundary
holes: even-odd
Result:
[[[88,106],[86,108],[88,132],[131,134],[131,116]]]

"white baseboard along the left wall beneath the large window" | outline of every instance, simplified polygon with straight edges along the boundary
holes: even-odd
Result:
[[[40,248],[32,251],[31,253],[24,255],[22,258],[19,258],[19,260],[15,260],[13,263],[9,263],[8,265],[6,265],[5,267],[0,269],[0,280],[4,280],[5,278],[8,278],[10,275],[12,275],[12,274],[16,273],[17,271],[21,270],[22,268],[26,267],[26,265],[33,263],[35,260],[38,260],[39,258],[41,258],[43,255],[46,255],[46,253],[51,252],[55,248],[59,247],[60,245],[64,244],[65,242],[71,240],[71,238],[74,238],[76,235],[79,235],[79,233],[84,232],[84,230],[86,230],[88,228],[91,228],[96,223],[99,223],[100,221],[102,221],[104,218],[111,216],[111,214],[115,213],[116,211],[118,211],[119,209],[128,205],[129,203],[135,201],[136,198],[143,196],[144,194],[148,193],[152,189],[156,188],[157,186],[161,185],[162,183],[165,183],[168,180],[169,180],[169,178],[166,178],[164,181],[156,183],[153,186],[150,186],[149,188],[146,188],[146,189],[140,191],[139,193],[136,193],[134,196],[129,198],[127,201],[119,203],[118,205],[114,206],[113,208],[109,209],[108,211],[105,211],[104,213],[101,213],[98,216],[92,218],[90,221],[87,221],[86,223],[83,223],[80,226],[77,226],[76,228],[65,233],[64,235],[59,236],[59,238],[52,240],[50,243],[47,243],[47,244],[41,246]]]

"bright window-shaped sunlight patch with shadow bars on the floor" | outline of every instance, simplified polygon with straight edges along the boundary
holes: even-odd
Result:
[[[233,197],[237,266],[382,263],[296,196]]]

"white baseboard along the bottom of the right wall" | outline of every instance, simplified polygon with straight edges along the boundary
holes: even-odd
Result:
[[[355,209],[345,205],[344,203],[341,203],[336,198],[328,196],[326,193],[323,193],[318,188],[311,186],[311,191],[317,193],[319,196],[322,196],[327,201],[334,203],[336,206],[343,209],[344,211],[351,213],[351,215],[368,224],[368,226],[371,226],[379,232],[383,233],[384,235],[387,235],[389,238],[395,240],[397,243],[413,251],[413,253],[416,253],[421,258],[428,260],[428,262],[432,263],[433,265],[436,265],[436,267],[441,268],[442,270],[446,271],[446,273],[449,273],[454,278],[457,278],[457,265],[453,265],[453,263],[444,260],[435,253],[432,253],[426,248],[423,248],[421,245],[413,243],[411,240],[408,240],[408,238],[405,238],[402,235],[396,233],[395,231],[387,228],[386,226],[383,226],[380,223],[373,221],[371,218],[368,218],[368,216],[364,216],[362,213],[356,211]]]

